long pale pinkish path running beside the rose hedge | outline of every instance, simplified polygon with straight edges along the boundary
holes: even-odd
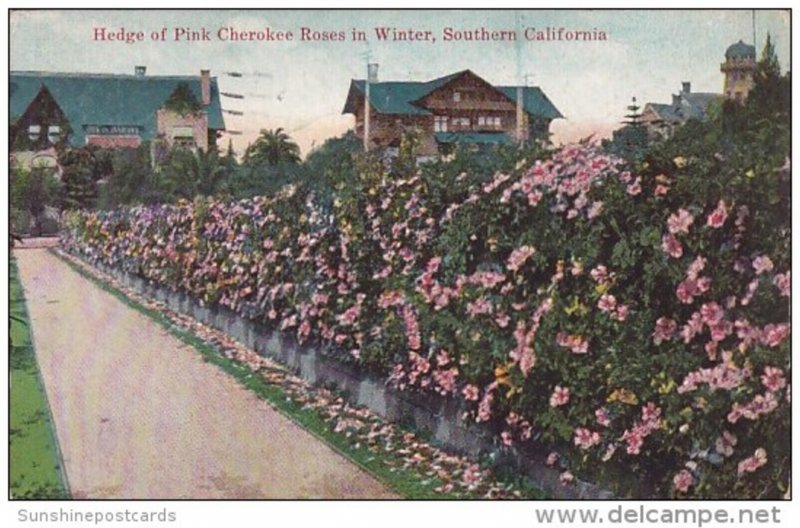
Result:
[[[76,498],[396,498],[45,249],[16,250]]]

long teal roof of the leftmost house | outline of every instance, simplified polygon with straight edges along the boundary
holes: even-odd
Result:
[[[86,125],[137,126],[143,139],[152,139],[156,110],[182,82],[201,101],[199,76],[11,72],[9,118],[19,118],[46,86],[72,127],[73,145],[86,143]],[[225,128],[216,77],[211,78],[211,104],[204,110],[209,128]]]

